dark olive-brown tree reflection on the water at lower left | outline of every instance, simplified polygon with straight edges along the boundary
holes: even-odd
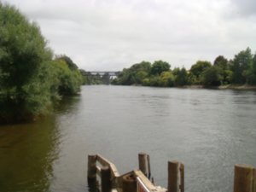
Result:
[[[0,127],[0,190],[47,191],[58,157],[55,119]]]

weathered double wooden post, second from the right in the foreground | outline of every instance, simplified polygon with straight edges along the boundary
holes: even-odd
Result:
[[[177,161],[168,162],[168,192],[184,191],[184,165]]]

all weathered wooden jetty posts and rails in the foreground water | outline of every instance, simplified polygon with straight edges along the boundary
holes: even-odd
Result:
[[[90,191],[102,192],[184,192],[184,165],[168,162],[167,189],[154,184],[148,154],[138,154],[139,170],[120,175],[116,166],[100,154],[88,155],[87,178]],[[101,184],[98,184],[100,178]],[[236,165],[234,192],[256,192],[256,168]]]

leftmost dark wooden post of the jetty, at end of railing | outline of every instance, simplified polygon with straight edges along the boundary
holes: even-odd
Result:
[[[88,155],[87,180],[96,183],[96,155]]]

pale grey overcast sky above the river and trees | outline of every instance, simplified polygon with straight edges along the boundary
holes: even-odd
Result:
[[[255,0],[4,0],[41,27],[55,54],[86,71],[140,61],[190,68],[256,51]]]

